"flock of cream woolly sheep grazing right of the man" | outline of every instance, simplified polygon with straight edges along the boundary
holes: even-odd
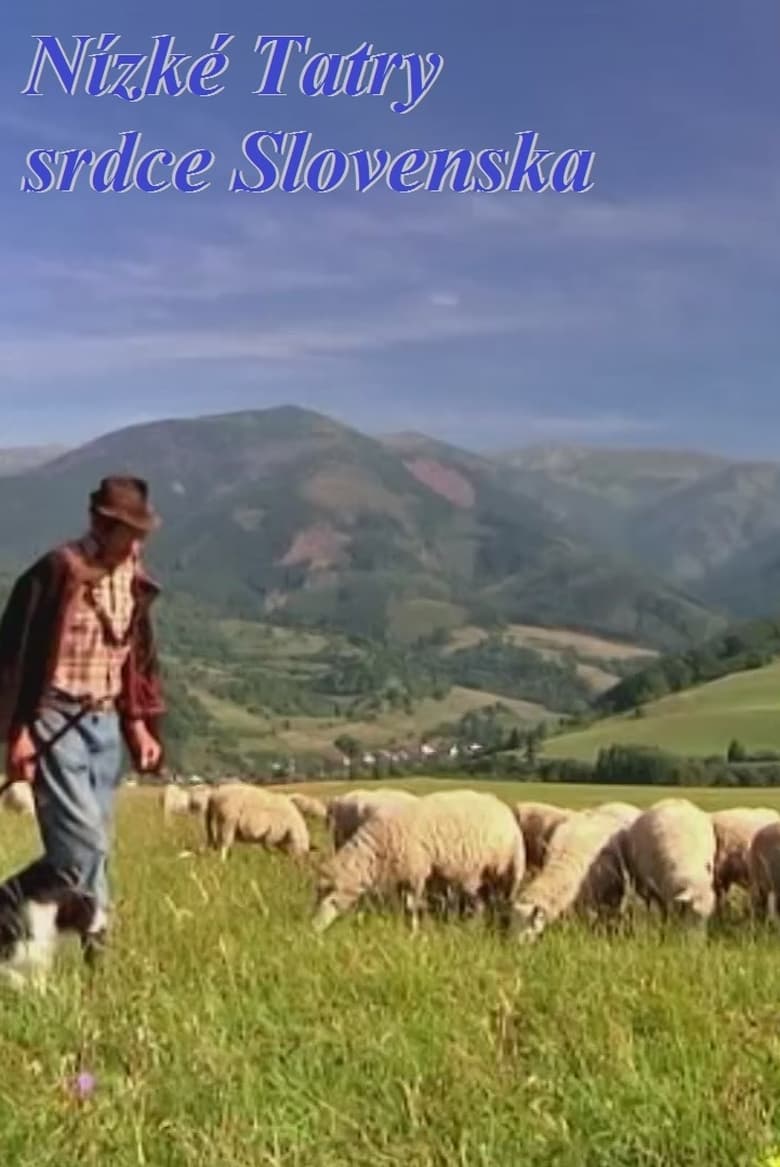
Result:
[[[202,816],[223,859],[235,843],[306,855],[318,850],[307,819],[321,820],[332,850],[319,865],[318,931],[364,899],[399,900],[413,931],[425,910],[486,913],[525,941],[566,916],[619,917],[632,890],[664,918],[703,928],[733,886],[757,916],[778,914],[780,813],[764,808],[708,813],[664,798],[643,811],[619,802],[574,811],[386,788],[320,801],[243,783],[170,785],[162,806],[166,817]]]

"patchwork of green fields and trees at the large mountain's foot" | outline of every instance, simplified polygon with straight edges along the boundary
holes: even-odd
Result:
[[[586,712],[610,676],[599,662],[625,669],[646,659],[631,645],[555,628],[496,635],[471,627],[462,638],[383,647],[221,620],[181,596],[160,615],[175,753],[197,767],[244,770],[274,755],[333,755],[343,736],[365,748],[452,739],[464,719],[464,732],[474,725],[476,711],[507,732],[528,728]]]

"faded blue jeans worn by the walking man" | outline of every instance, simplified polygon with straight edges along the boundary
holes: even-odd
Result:
[[[37,883],[35,872],[49,872],[95,901],[100,916],[109,909],[109,851],[113,809],[121,770],[121,734],[114,712],[85,713],[54,745],[53,738],[77,712],[76,704],[57,700],[35,722],[42,747],[33,792],[44,857],[21,872],[21,886]],[[27,876],[27,878],[26,878]]]

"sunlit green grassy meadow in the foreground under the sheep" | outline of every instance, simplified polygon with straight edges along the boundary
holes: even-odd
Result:
[[[404,783],[429,789],[436,783]],[[448,783],[453,785],[454,783]],[[660,790],[493,784],[508,799]],[[680,791],[677,791],[680,792]],[[780,791],[696,791],[708,806]],[[358,914],[307,928],[313,862],[199,854],[130,789],[119,922],[98,978],[63,953],[0,997],[0,1162],[14,1167],[771,1167],[780,1156],[780,939],[705,946],[645,918],[532,950],[475,924]],[[4,816],[4,866],[35,851]],[[95,1077],[74,1096],[79,1072]],[[780,1158],[774,1160],[780,1162]]]

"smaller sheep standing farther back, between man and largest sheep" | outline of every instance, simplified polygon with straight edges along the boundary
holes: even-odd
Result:
[[[223,862],[234,843],[262,843],[293,855],[311,850],[308,829],[298,808],[284,795],[230,783],[211,792],[206,811],[208,846]]]

